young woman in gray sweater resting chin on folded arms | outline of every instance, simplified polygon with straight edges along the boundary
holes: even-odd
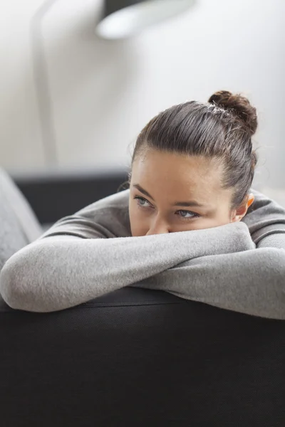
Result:
[[[256,130],[255,108],[227,91],[161,112],[138,136],[130,189],[14,254],[4,300],[51,312],[131,285],[285,319],[285,209],[251,189]]]

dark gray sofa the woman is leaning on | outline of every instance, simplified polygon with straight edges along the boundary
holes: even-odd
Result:
[[[125,172],[14,180],[43,224]],[[0,349],[1,427],[285,426],[282,320],[131,287],[52,313],[0,299]]]

